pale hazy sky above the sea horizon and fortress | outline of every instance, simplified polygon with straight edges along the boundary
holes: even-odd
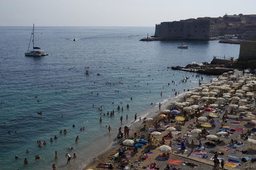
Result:
[[[256,14],[256,0],[0,0],[0,26],[155,26]]]

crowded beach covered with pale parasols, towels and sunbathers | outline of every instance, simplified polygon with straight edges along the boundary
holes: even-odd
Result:
[[[111,163],[113,169],[165,169],[167,165],[170,166],[170,169],[215,169],[214,161],[210,160],[214,156],[217,156],[216,159],[219,159],[220,161],[221,159],[224,160],[224,169],[249,169],[250,167],[251,169],[255,169],[256,164],[251,161],[253,157],[256,157],[255,145],[248,141],[250,139],[256,139],[254,128],[255,123],[253,123],[253,120],[256,119],[254,99],[256,95],[253,93],[255,83],[252,81],[255,77],[253,74],[245,73],[243,75],[240,72],[239,75],[236,74],[238,76],[234,79],[233,73],[234,72],[230,72],[228,75],[224,73],[223,76],[211,81],[211,83],[203,82],[199,88],[192,88],[190,91],[187,91],[180,97],[174,99],[178,102],[171,102],[172,104],[170,104],[170,101],[168,101],[168,105],[161,107],[161,110],[157,112],[156,115],[150,115],[153,120],[147,122],[143,122],[143,120],[139,121],[139,126],[134,131],[137,133],[138,138],[141,137],[147,141],[147,137],[150,133],[155,131],[161,132],[159,136],[151,135],[151,137],[153,136],[157,139],[152,143],[152,146],[144,144],[144,146],[138,147],[138,153],[134,153],[132,150],[128,149],[128,151],[124,152],[124,156],[119,157],[118,152],[120,151],[120,148],[125,149],[124,147],[133,147],[118,144],[114,148],[99,155],[97,159],[94,159],[84,169],[102,169],[97,167],[97,165],[104,162]],[[242,91],[240,89],[242,89]],[[242,95],[238,94],[238,92]],[[252,95],[248,95],[249,93]],[[191,100],[193,94],[194,96],[195,94],[198,95],[198,97],[194,97],[195,100]],[[209,97],[215,97],[215,99],[209,99]],[[223,98],[221,99],[220,97]],[[182,102],[185,103],[183,105],[177,104]],[[195,104],[198,104],[198,107],[195,109],[186,108],[189,106],[193,108],[193,105]],[[246,107],[246,109],[241,106]],[[207,110],[209,108],[212,110]],[[170,111],[176,109],[181,113],[170,113],[170,116],[173,117],[169,122],[167,116],[169,113],[166,113],[166,111],[163,113],[163,110],[165,109],[170,109]],[[199,110],[200,112],[198,113],[197,111]],[[159,117],[158,115],[160,114],[165,114],[166,116],[163,115],[163,117]],[[184,114],[186,114],[187,117]],[[212,117],[209,117],[209,114]],[[245,116],[246,114],[252,115]],[[176,117],[178,116],[186,117],[186,120],[178,121],[176,120]],[[225,117],[223,118],[223,116]],[[149,117],[147,116],[147,118]],[[206,120],[203,120],[202,118],[206,118]],[[185,124],[178,125],[177,122],[184,122]],[[206,123],[211,127],[202,127],[203,123]],[[169,133],[166,130],[168,127],[176,128],[176,131],[172,132],[172,138],[164,138],[164,136]],[[191,132],[191,130],[194,129],[200,129],[202,132],[200,134],[193,134],[193,131]],[[250,131],[248,132],[248,130]],[[217,132],[222,132],[223,135],[217,135]],[[243,138],[242,135],[247,132],[249,135],[247,138],[246,135]],[[134,137],[133,134],[133,132],[130,133],[131,137]],[[198,138],[199,135],[201,135],[200,138]],[[207,135],[215,135],[214,138],[216,142],[210,141],[214,140],[214,138],[210,139],[210,137],[206,137]],[[176,140],[180,140],[182,138],[185,142],[186,136],[188,136],[188,143],[185,145],[185,150],[181,150],[182,141],[178,142]],[[170,141],[172,142],[171,148],[173,152],[167,151],[170,156],[169,158],[166,158],[166,160],[157,158],[158,155],[163,154],[163,152],[159,150],[159,147],[163,145],[163,138],[165,140],[165,145],[169,146]],[[125,139],[123,138],[123,141],[124,140]],[[203,147],[194,148],[192,152],[192,140],[194,141],[194,146],[198,145],[200,140]],[[231,143],[231,140],[234,140],[234,142]],[[213,145],[215,146],[207,144],[209,142],[214,143]],[[140,157],[144,152],[147,152],[147,158],[145,160],[141,160]],[[214,152],[219,153],[216,155]],[[122,158],[125,159],[125,161],[129,160],[123,167],[120,166]],[[248,160],[245,162],[241,158],[248,158]],[[150,167],[150,164],[154,162],[157,167]],[[185,165],[185,162],[191,162],[197,166],[191,167]]]

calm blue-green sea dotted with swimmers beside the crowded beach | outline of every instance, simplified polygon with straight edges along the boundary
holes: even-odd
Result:
[[[24,52],[31,31],[32,27],[0,27],[1,169],[50,169],[53,163],[62,169],[81,169],[99,152],[116,144],[113,139],[118,127],[133,123],[135,113],[152,112],[158,102],[174,97],[174,88],[182,93],[198,85],[195,77],[186,84],[172,84],[172,80],[179,82],[193,73],[167,67],[210,62],[213,55],[239,54],[239,45],[220,44],[218,40],[183,42],[189,49],[177,49],[178,41],[138,41],[147,33],[153,35],[154,27],[35,27],[35,46],[49,56],[28,57]],[[74,38],[77,41],[72,41]],[[202,76],[205,81],[212,78]],[[124,110],[117,111],[118,105]],[[98,111],[101,106],[102,115]],[[114,116],[103,116],[113,109]],[[39,111],[43,114],[36,113]],[[112,127],[110,134],[103,127],[106,125]],[[80,127],[86,130],[80,131]],[[64,129],[68,133],[60,134]],[[50,142],[54,135],[58,139]],[[77,135],[80,142],[75,143]],[[37,140],[48,144],[38,148]],[[74,150],[69,151],[69,147]],[[58,160],[54,159],[55,150]],[[78,156],[67,166],[66,153]],[[35,161],[37,154],[40,161]],[[24,158],[28,165],[23,164]]]

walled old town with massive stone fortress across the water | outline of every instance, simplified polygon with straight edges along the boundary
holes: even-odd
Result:
[[[155,37],[166,39],[209,39],[210,37],[243,34],[256,35],[256,15],[199,17],[156,24]]]

